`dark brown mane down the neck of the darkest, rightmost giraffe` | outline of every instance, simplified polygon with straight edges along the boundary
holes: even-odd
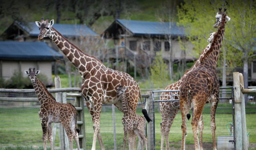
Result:
[[[205,53],[205,56],[203,57],[203,59],[201,60],[204,61],[206,59],[206,56],[210,55],[213,51],[213,48],[216,49],[217,45],[216,45],[216,42],[218,40],[218,36],[220,35],[220,32],[222,32],[222,30],[220,30],[220,28],[223,28],[224,27],[224,24],[225,22],[223,22],[223,19],[226,19],[226,14],[223,13],[222,14],[222,19],[221,19],[221,24],[219,26],[219,29],[218,31],[215,33],[215,35],[213,36],[213,40],[212,40],[212,43],[211,43],[211,47],[210,49]]]

